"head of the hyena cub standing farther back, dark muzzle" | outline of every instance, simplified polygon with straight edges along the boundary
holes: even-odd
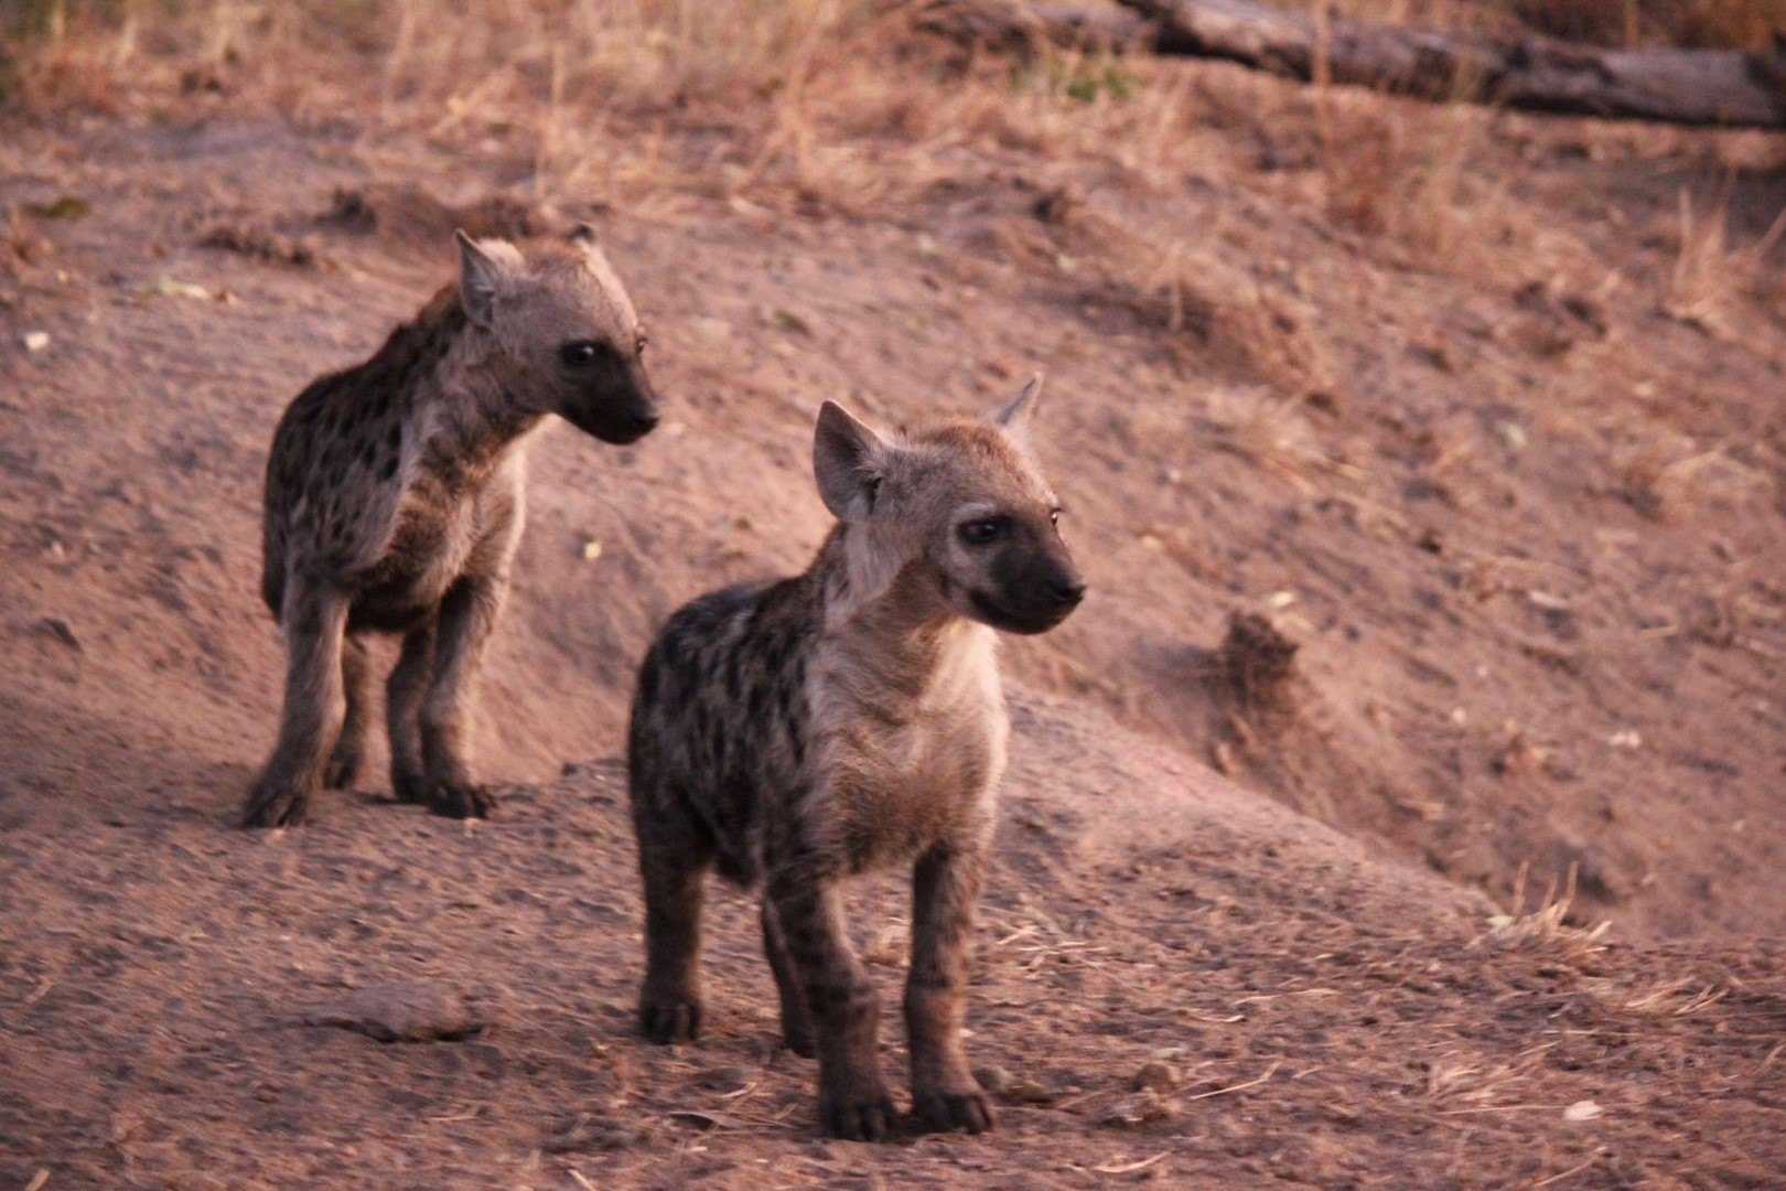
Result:
[[[657,425],[645,330],[588,223],[525,255],[459,232],[459,302],[516,373],[505,387],[518,404],[604,443],[632,443]]]

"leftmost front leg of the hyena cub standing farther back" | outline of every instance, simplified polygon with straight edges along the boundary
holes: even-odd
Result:
[[[329,754],[346,718],[341,679],[346,595],[293,575],[280,623],[286,630],[286,702],[279,745],[248,795],[248,827],[302,823],[323,782]]]

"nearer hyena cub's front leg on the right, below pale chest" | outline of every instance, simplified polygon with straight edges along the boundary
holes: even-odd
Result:
[[[968,939],[986,871],[982,848],[938,845],[913,870],[911,973],[906,1034],[911,1043],[913,1112],[931,1129],[979,1134],[993,1127],[993,1102],[961,1050],[966,1016]]]

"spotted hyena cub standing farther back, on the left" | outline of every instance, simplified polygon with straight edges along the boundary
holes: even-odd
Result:
[[[250,827],[296,823],[318,786],[357,777],[370,632],[404,637],[386,687],[396,796],[489,814],[470,696],[522,536],[527,432],[547,414],[604,443],[657,425],[645,332],[595,229],[525,254],[457,239],[457,284],[304,389],[273,434],[261,593],[284,629],[286,705]]]

